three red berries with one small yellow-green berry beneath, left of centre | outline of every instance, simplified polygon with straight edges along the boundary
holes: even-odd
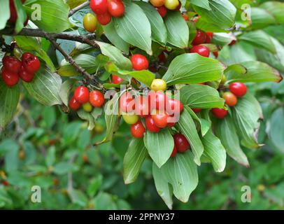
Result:
[[[89,92],[88,88],[80,85],[74,91],[73,96],[69,101],[69,107],[73,111],[77,111],[81,106],[83,109],[90,113],[93,107],[101,107],[104,105],[104,94],[98,90]]]

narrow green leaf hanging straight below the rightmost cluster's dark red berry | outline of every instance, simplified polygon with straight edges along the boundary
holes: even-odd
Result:
[[[239,137],[236,134],[232,118],[226,116],[224,119],[218,120],[215,125],[215,131],[228,155],[241,165],[249,167],[248,158],[240,147]]]

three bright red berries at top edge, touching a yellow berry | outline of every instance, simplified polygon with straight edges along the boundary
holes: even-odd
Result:
[[[97,15],[101,25],[111,22],[111,17],[121,17],[125,13],[122,0],[91,0],[90,8]]]

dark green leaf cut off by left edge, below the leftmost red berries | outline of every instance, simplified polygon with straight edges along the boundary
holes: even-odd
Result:
[[[0,127],[6,127],[12,120],[19,98],[19,85],[7,87],[3,80],[0,80]]]

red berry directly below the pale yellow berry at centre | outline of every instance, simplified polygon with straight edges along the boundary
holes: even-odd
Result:
[[[150,111],[152,111],[152,109],[164,111],[169,103],[168,97],[166,97],[166,94],[164,94],[162,91],[150,91],[148,94],[148,102]]]

